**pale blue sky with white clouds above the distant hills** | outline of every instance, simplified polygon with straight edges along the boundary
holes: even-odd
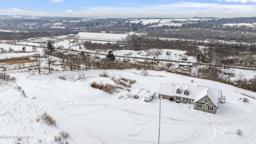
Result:
[[[256,0],[1,0],[0,15],[88,18],[254,17]]]

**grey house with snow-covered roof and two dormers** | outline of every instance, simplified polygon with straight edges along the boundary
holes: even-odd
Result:
[[[163,99],[172,99],[182,103],[194,104],[194,109],[216,113],[219,90],[206,88],[198,84],[161,84],[158,94]]]

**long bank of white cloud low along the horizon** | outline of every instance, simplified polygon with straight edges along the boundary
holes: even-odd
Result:
[[[53,1],[53,0],[52,0]],[[60,0],[59,0],[60,1]],[[223,0],[224,1],[224,0]],[[240,0],[241,1],[241,0]],[[0,9],[0,15],[74,16],[88,18],[192,18],[198,17],[254,17],[256,4],[178,2],[144,6],[86,7],[83,10],[26,11],[18,8]]]

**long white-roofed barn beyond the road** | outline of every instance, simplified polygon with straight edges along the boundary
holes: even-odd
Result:
[[[128,42],[132,40],[128,34],[107,34],[96,32],[79,32],[78,37],[80,40],[97,40],[105,42]]]

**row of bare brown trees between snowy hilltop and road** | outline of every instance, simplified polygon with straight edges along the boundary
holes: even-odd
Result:
[[[172,63],[159,64],[151,60],[145,59],[139,60],[127,60],[122,58],[116,58],[113,52],[109,51],[105,58],[97,56],[91,56],[88,54],[77,54],[75,52],[54,52],[52,50],[45,50],[43,55],[34,55],[35,63],[39,73],[42,71],[43,63],[49,73],[53,70],[53,66],[58,65],[62,68],[62,71],[66,70],[87,70],[87,69],[150,69],[150,70],[166,70],[167,72],[173,72],[183,75],[188,75],[197,78],[204,78],[209,80],[215,80],[235,86],[256,91],[256,78],[247,80],[244,74],[239,73],[236,79],[233,80],[233,74],[235,73],[232,68],[224,68],[218,65],[210,66],[196,66],[194,68],[188,68],[186,70],[176,69]],[[59,61],[59,64],[55,62]]]

